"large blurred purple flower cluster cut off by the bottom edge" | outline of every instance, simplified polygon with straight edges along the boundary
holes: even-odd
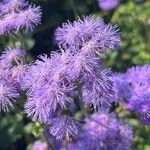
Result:
[[[131,127],[119,122],[115,114],[96,113],[86,119],[84,132],[67,150],[130,150],[132,136]]]

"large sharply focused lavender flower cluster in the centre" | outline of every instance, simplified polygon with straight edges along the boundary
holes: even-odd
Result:
[[[118,48],[120,37],[116,26],[92,16],[63,24],[55,37],[61,51],[50,58],[40,56],[24,77],[25,112],[33,121],[50,124],[50,133],[57,139],[69,140],[82,130],[72,117],[71,106],[76,99],[95,110],[113,100],[112,73],[99,56],[107,48]]]

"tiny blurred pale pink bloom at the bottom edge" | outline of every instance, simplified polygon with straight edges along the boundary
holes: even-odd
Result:
[[[42,141],[36,141],[32,145],[32,150],[48,150],[48,145]]]

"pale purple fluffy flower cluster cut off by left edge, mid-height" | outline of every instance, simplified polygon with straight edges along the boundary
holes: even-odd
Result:
[[[25,74],[25,53],[21,49],[7,48],[0,56],[0,112],[9,111],[19,98],[20,83]]]

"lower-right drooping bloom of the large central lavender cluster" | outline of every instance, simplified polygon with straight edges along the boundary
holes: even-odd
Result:
[[[113,83],[110,79],[111,70],[104,66],[98,67],[92,72],[83,75],[82,97],[86,105],[92,105],[94,109],[108,107],[113,101]]]

